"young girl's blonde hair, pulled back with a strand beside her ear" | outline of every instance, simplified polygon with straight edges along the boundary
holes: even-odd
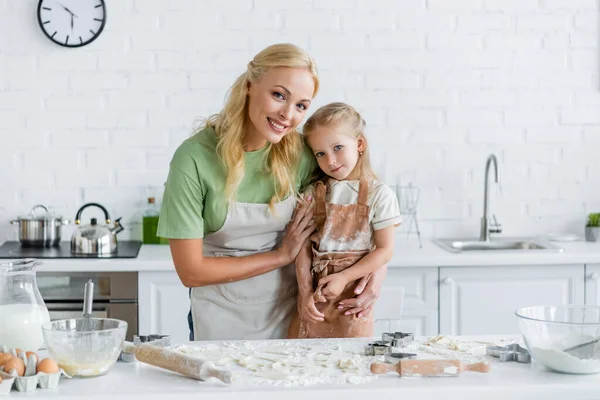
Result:
[[[344,130],[343,133],[352,138],[362,137],[365,143],[365,148],[362,155],[358,158],[358,162],[354,168],[358,168],[359,176],[362,178],[379,179],[369,160],[369,144],[365,135],[367,123],[354,107],[346,103],[330,103],[320,107],[306,121],[302,133],[305,139],[308,139],[317,126],[332,126],[338,124],[346,124],[351,129]],[[308,143],[308,141],[307,141]]]

